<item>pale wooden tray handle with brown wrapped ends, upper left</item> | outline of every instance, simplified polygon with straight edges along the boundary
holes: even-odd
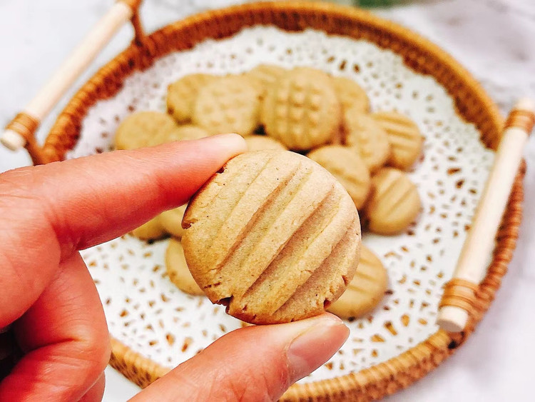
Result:
[[[78,44],[71,55],[63,61],[50,81],[6,126],[4,134],[0,137],[0,142],[4,146],[12,151],[26,147],[34,164],[44,164],[49,161],[35,139],[39,124],[128,20],[131,20],[134,27],[136,34],[134,41],[137,44],[143,42],[145,34],[138,16],[141,1],[118,0],[111,7],[81,44]]]

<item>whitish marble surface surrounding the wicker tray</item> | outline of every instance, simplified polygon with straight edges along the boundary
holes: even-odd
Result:
[[[208,6],[234,0],[146,0],[148,31]],[[347,3],[347,1],[343,1]],[[31,99],[112,0],[3,0],[0,2],[0,126]],[[464,64],[504,113],[521,95],[535,98],[535,2],[533,0],[420,0],[374,12],[419,31]],[[80,79],[86,81],[131,39],[125,27]],[[66,98],[68,99],[68,97]],[[57,115],[65,101],[58,105]],[[45,121],[39,139],[46,136]],[[535,357],[531,320],[535,305],[535,139],[526,149],[525,218],[519,245],[496,303],[467,343],[436,371],[392,401],[531,401]],[[0,171],[29,164],[24,152],[0,148]],[[106,370],[104,401],[138,392],[120,373]]]

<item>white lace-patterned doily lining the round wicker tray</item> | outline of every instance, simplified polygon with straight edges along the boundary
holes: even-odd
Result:
[[[350,77],[366,89],[372,109],[407,114],[425,136],[424,155],[410,173],[424,206],[417,224],[399,236],[364,235],[387,267],[387,295],[371,316],[348,323],[349,340],[302,382],[360,371],[437,331],[442,286],[452,276],[494,156],[479,141],[477,129],[457,116],[452,99],[432,77],[414,73],[399,56],[366,41],[255,26],[229,39],[170,54],[133,74],[115,97],[89,111],[68,158],[111,149],[118,123],[133,111],[164,111],[166,88],[180,76],[241,73],[260,63],[314,66]],[[126,235],[82,256],[103,301],[111,335],[173,367],[242,324],[227,316],[224,307],[185,295],[170,283],[166,246],[167,241],[147,244]]]

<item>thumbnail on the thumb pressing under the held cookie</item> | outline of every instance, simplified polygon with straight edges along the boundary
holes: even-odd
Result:
[[[292,340],[286,351],[292,382],[328,361],[349,335],[349,328],[336,316],[325,314],[312,319],[310,326]]]

